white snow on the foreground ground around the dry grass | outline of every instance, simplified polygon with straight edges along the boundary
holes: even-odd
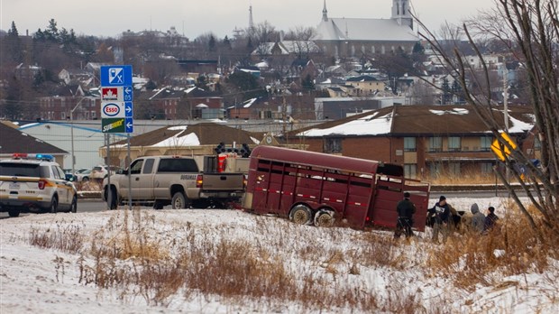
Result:
[[[472,199],[448,199],[458,210],[469,210]],[[503,217],[503,199],[477,200],[480,208],[488,206],[497,208],[496,213]],[[433,199],[430,204],[434,204]],[[78,213],[56,215],[29,215],[18,218],[0,219],[0,313],[243,313],[243,312],[300,312],[313,311],[301,309],[297,304],[274,305],[272,308],[262,305],[258,300],[243,304],[219,296],[190,296],[177,293],[172,296],[166,306],[148,305],[141,296],[128,295],[122,298],[114,289],[101,290],[92,284],[78,282],[79,270],[77,261],[79,254],[67,254],[57,250],[41,249],[29,243],[31,230],[47,230],[60,226],[78,226],[81,233],[93,235],[96,231],[106,228],[113,220],[122,220],[127,214],[125,210],[104,211],[96,213]],[[133,215],[128,217],[133,221]],[[286,238],[282,234],[286,228],[298,236],[316,239],[325,245],[325,252],[334,247],[344,253],[359,250],[359,241],[355,239],[361,231],[344,228],[316,228],[313,226],[295,226],[285,219],[277,217],[257,217],[239,210],[193,209],[193,210],[150,210],[142,209],[142,219],[150,220],[153,236],[160,241],[174,241],[184,238],[184,229],[197,230],[206,238],[219,239],[227,236],[246,240],[248,243],[269,245],[270,250],[277,247],[288,247],[297,251],[301,245],[297,236]],[[262,234],[262,226],[266,233]],[[276,227],[280,226],[280,227]],[[339,229],[333,231],[332,229]],[[410,263],[408,268],[393,269],[386,266],[368,267],[362,265],[360,272],[349,274],[340,272],[330,280],[333,285],[352,285],[366,291],[374,291],[376,295],[389,298],[390,291],[401,287],[404,294],[416,295],[421,299],[423,309],[417,312],[454,312],[454,313],[557,313],[559,312],[559,263],[554,261],[552,267],[543,273],[526,273],[522,276],[503,278],[503,284],[491,287],[477,287],[476,291],[462,291],[455,288],[452,282],[426,275],[421,272],[421,263],[425,260],[426,246],[432,245],[429,229],[420,234],[416,243],[400,245],[412,254],[417,254],[417,261]],[[377,232],[377,231],[375,231]],[[261,233],[261,234],[259,234]],[[325,244],[335,234],[338,243]],[[386,236],[391,236],[386,232]],[[322,241],[322,242],[321,242]],[[281,244],[281,245],[280,245]],[[325,261],[296,261],[298,256],[292,252],[280,252],[287,258],[287,263],[307,267],[316,267],[321,272]],[[408,252],[409,254],[409,252]],[[290,257],[289,257],[290,256]],[[291,267],[288,267],[291,270]],[[324,270],[323,270],[324,271]],[[329,278],[327,273],[323,278]],[[211,278],[207,279],[211,281]],[[441,305],[441,295],[452,295],[451,302]],[[268,303],[266,303],[268,304]],[[350,312],[356,310],[321,309],[321,312]],[[376,310],[375,310],[376,311]],[[386,312],[390,312],[389,309]]]

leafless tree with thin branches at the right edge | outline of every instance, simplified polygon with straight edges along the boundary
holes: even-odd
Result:
[[[557,4],[554,0],[494,0],[496,7],[481,18],[463,23],[462,31],[472,50],[481,60],[481,69],[473,69],[466,62],[454,38],[453,51],[448,51],[444,43],[436,39],[434,33],[421,33],[435,51],[438,52],[447,69],[458,79],[463,88],[465,100],[499,140],[501,151],[509,149],[504,164],[520,182],[531,204],[543,219],[544,225],[536,224],[536,216],[527,210],[518,199],[503,171],[497,170],[500,180],[509,189],[518,207],[537,231],[549,228],[559,235],[559,21]],[[522,63],[526,71],[530,106],[534,109],[536,127],[534,132],[541,142],[541,166],[536,166],[522,150],[512,145],[499,134],[503,123],[496,115],[491,88],[494,86],[490,67],[484,59],[479,40],[488,38],[499,40],[499,49],[507,48],[509,57]],[[522,180],[515,171],[514,163],[528,168],[527,179]],[[541,235],[541,233],[540,233]]]

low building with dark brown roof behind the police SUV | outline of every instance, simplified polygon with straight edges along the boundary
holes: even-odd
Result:
[[[60,165],[64,164],[65,157],[69,155],[67,151],[23,133],[17,127],[7,121],[0,122],[0,159],[12,158],[15,152],[45,153],[53,155]]]

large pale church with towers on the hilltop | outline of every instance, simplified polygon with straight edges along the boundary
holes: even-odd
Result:
[[[398,47],[411,53],[419,37],[414,32],[409,2],[392,0],[389,19],[367,19],[328,17],[325,1],[314,42],[325,54],[336,58],[383,54]]]

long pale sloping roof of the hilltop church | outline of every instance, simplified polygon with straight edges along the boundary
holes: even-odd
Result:
[[[318,24],[315,40],[417,42],[419,38],[394,19],[328,18]]]

